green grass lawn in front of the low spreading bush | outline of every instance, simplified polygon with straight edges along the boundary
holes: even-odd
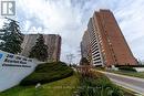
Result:
[[[0,96],[72,96],[74,89],[79,85],[76,75],[43,84],[38,89],[34,86],[16,86],[3,93]]]

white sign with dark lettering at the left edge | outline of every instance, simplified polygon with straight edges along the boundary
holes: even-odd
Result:
[[[0,92],[18,85],[37,65],[32,58],[0,51]]]

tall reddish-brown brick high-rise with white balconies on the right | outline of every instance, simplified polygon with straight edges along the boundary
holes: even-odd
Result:
[[[89,57],[94,65],[137,64],[110,10],[94,12],[83,35],[81,47],[82,56]]]

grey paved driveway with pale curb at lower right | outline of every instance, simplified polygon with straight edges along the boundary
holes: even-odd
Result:
[[[144,79],[143,78],[131,77],[131,76],[102,72],[102,71],[99,71],[99,72],[104,73],[115,84],[144,95]]]

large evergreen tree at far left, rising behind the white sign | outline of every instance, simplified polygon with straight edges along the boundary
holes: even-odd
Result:
[[[8,18],[7,18],[8,19]],[[20,31],[19,22],[8,19],[4,22],[3,28],[0,30],[2,42],[0,43],[0,50],[18,54],[21,52],[21,43],[23,42],[23,34]]]

